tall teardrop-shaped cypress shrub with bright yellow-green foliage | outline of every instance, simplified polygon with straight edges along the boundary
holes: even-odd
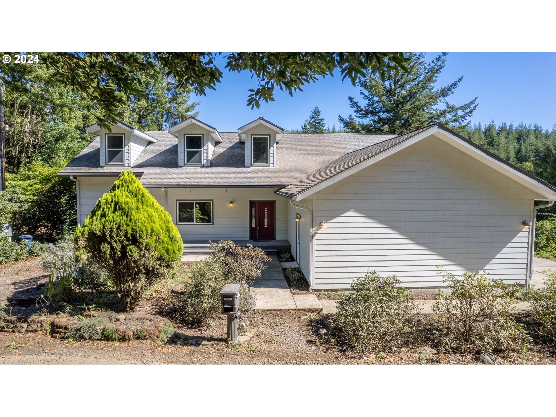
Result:
[[[175,274],[183,253],[172,217],[131,170],[97,201],[74,237],[78,251],[88,252],[106,272],[124,311],[147,287]]]

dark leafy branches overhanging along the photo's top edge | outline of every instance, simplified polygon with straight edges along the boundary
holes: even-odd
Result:
[[[174,80],[173,88],[197,95],[215,90],[222,78],[211,52],[51,52],[41,53],[41,61],[50,69],[57,85],[86,98],[98,110],[97,121],[109,127],[121,119],[122,108],[133,96],[145,91],[145,80],[154,80],[163,68],[165,76]],[[233,72],[247,71],[257,80],[250,90],[247,105],[260,106],[260,101],[274,101],[274,88],[302,91],[302,86],[340,69],[342,80],[355,85],[367,70],[380,77],[404,70],[406,58],[401,52],[232,52],[225,55],[225,68]],[[0,63],[0,71],[11,72],[13,65]],[[23,80],[25,75],[22,74]]]

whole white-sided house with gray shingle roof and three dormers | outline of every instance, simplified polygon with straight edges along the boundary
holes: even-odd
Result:
[[[166,132],[117,122],[58,175],[82,224],[122,170],[171,214],[186,250],[208,240],[290,249],[311,289],[365,271],[410,288],[446,270],[527,284],[535,210],[556,188],[437,123],[405,135],[289,133],[264,118],[219,132],[190,117]]]

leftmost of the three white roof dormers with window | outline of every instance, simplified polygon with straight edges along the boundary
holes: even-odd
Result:
[[[100,138],[100,166],[131,167],[149,142],[156,139],[120,120],[112,124],[111,131],[95,125],[87,127],[87,133]]]

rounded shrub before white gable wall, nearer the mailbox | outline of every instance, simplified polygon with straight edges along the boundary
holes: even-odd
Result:
[[[395,276],[381,278],[376,271],[355,279],[336,304],[330,320],[334,338],[356,351],[393,349],[410,343],[420,328],[413,298]]]

